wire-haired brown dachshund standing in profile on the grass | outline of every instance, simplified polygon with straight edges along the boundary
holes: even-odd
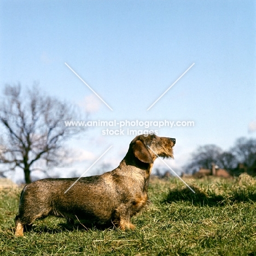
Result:
[[[113,171],[80,178],[74,185],[77,178],[46,178],[26,185],[15,218],[15,235],[23,236],[25,225],[47,216],[63,217],[69,223],[78,219],[135,229],[131,217],[148,202],[153,162],[159,156],[173,158],[175,143],[174,138],[139,135]]]

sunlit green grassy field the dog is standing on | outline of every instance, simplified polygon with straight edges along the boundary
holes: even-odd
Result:
[[[15,237],[21,189],[0,190],[0,255],[256,255],[256,179],[152,179],[152,203],[133,217],[135,231],[34,223]]]

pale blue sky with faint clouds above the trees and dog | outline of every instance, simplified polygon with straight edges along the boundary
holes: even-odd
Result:
[[[228,149],[256,135],[255,1],[2,0],[0,26],[1,90],[36,81],[49,95],[86,106],[91,120],[194,121],[158,129],[177,139],[168,162],[178,172],[199,145]],[[110,145],[102,162],[118,165],[134,136],[101,130],[70,143],[80,162],[63,176],[83,172]]]

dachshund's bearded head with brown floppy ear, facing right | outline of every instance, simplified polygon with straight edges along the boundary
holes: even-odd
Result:
[[[173,158],[173,146],[176,139],[167,137],[158,137],[156,135],[139,135],[135,137],[131,144],[135,157],[147,164],[153,164],[154,160],[161,156],[162,158]]]

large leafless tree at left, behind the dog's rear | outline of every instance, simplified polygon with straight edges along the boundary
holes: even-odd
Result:
[[[65,126],[65,120],[78,117],[75,107],[44,95],[38,88],[21,94],[21,86],[5,86],[0,103],[0,163],[7,170],[20,167],[25,182],[40,162],[47,167],[61,164],[67,153],[65,142],[81,131]]]

